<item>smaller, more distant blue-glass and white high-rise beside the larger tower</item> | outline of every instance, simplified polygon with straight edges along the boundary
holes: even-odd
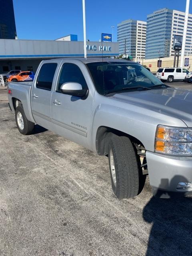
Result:
[[[146,22],[124,20],[117,25],[119,54],[128,54],[136,60],[145,58]]]

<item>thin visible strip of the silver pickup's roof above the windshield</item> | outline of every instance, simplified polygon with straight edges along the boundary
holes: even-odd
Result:
[[[100,58],[100,57],[88,57],[88,58],[83,58],[83,57],[72,57],[72,58],[59,58],[59,59],[64,59],[64,60],[80,60],[83,63],[90,63],[90,62],[129,62],[129,63],[136,63],[130,60],[122,60],[122,59],[112,59],[112,58]]]

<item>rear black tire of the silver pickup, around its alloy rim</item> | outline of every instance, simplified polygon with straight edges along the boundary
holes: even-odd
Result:
[[[24,127],[22,129],[20,128],[20,126],[18,124],[18,118],[17,118],[17,116],[19,115],[18,113],[21,114],[22,119],[23,119]],[[24,112],[24,109],[23,109],[22,105],[19,105],[18,107],[16,107],[16,110],[15,110],[15,120],[16,120],[16,124],[17,124],[18,130],[19,130],[19,132],[21,134],[23,134],[23,135],[32,134],[32,132],[34,130],[34,123],[30,122],[26,118],[26,115],[25,115],[25,112]]]

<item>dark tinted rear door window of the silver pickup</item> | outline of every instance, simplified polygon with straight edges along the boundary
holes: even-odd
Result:
[[[51,90],[57,63],[45,63],[40,68],[36,87],[44,90]]]

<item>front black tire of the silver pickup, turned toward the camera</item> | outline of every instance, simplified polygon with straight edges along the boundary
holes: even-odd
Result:
[[[116,184],[112,174],[111,152],[114,159]],[[112,190],[117,198],[137,196],[140,192],[140,172],[138,159],[130,139],[112,134],[108,147],[108,159]]]

